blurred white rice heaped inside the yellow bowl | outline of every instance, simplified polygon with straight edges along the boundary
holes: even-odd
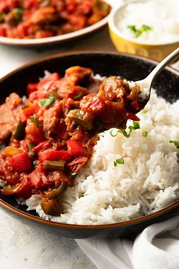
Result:
[[[126,5],[116,16],[116,25],[127,38],[137,42],[167,43],[179,41],[179,1],[152,0],[140,1]],[[142,16],[143,15],[143,16]],[[140,29],[142,25],[152,27],[151,31],[144,31],[135,37],[134,32],[127,28],[135,25]]]

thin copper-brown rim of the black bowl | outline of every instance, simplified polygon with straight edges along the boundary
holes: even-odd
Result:
[[[122,55],[122,56],[125,56],[125,57],[132,57],[132,58],[137,58],[137,59],[140,59],[140,60],[146,60],[148,62],[151,62],[151,63],[154,63],[154,64],[158,64],[157,61],[155,60],[152,60],[150,58],[147,58],[147,57],[143,57],[143,56],[139,56],[139,55],[133,55],[133,54],[129,54],[129,53],[120,53],[120,52],[117,52],[117,51],[113,51],[113,50],[84,50],[84,51],[69,51],[69,52],[64,52],[64,53],[57,53],[57,54],[52,54],[50,56],[46,56],[46,57],[41,57],[37,60],[33,60],[27,64],[24,64],[23,66],[15,69],[14,71],[10,72],[9,74],[5,75],[4,77],[2,77],[0,79],[0,82],[3,81],[4,79],[6,79],[7,77],[13,75],[14,73],[18,72],[19,70],[22,70],[28,66],[32,66],[36,63],[39,63],[39,62],[43,62],[45,60],[50,60],[50,59],[53,59],[53,58],[56,58],[56,57],[60,57],[60,56],[69,56],[69,55],[75,55],[75,54],[116,54],[116,55]],[[179,76],[179,72],[178,70],[172,68],[172,67],[166,67],[166,69],[168,69],[169,71],[175,73],[176,75]],[[19,209],[16,209],[15,207],[9,205],[8,203],[4,202],[2,199],[0,199],[0,205],[3,206],[5,209],[7,210],[10,210],[11,212],[23,217],[23,218],[26,218],[26,219],[29,219],[31,221],[36,221],[38,223],[41,223],[41,224],[46,224],[46,225],[50,225],[50,226],[54,226],[54,227],[61,227],[61,228],[66,228],[66,229],[107,229],[107,228],[114,228],[114,227],[121,227],[121,226],[126,226],[126,225],[129,225],[129,224],[135,224],[135,223],[139,223],[139,222],[142,222],[142,221],[146,221],[148,219],[151,219],[151,218],[154,218],[156,216],[160,216],[162,215],[164,212],[167,212],[177,206],[179,206],[179,200],[170,204],[169,206],[166,206],[165,208],[161,209],[161,210],[158,210],[157,212],[155,213],[152,213],[152,214],[149,214],[149,215],[146,215],[146,216],[143,216],[143,217],[140,217],[140,218],[136,218],[136,219],[132,219],[132,220],[129,220],[129,221],[122,221],[122,222],[117,222],[117,223],[112,223],[112,224],[101,224],[101,225],[78,225],[78,224],[64,224],[64,223],[60,223],[60,222],[55,222],[55,221],[49,221],[49,220],[45,220],[45,219],[42,219],[40,217],[36,217],[36,216],[33,216],[33,215],[30,215],[29,213],[26,213],[26,212],[23,212]]]

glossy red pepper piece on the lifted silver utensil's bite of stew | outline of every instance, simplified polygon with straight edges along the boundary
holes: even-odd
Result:
[[[94,94],[84,97],[80,104],[82,111],[88,111],[94,115],[99,115],[104,111],[105,104]]]

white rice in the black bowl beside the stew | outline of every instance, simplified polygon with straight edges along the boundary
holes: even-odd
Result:
[[[62,197],[61,217],[45,215],[39,195],[25,201],[27,210],[34,209],[41,218],[52,221],[96,225],[150,214],[177,200],[179,150],[169,140],[179,138],[178,107],[179,101],[169,104],[152,90],[147,113],[138,113],[140,129],[133,130],[129,138],[121,133],[112,137],[109,131],[100,136],[75,186],[67,188]],[[147,137],[143,137],[144,131]],[[116,132],[114,129],[112,134]],[[124,164],[114,167],[121,157]]]

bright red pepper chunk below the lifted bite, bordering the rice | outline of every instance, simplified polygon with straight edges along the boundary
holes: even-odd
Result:
[[[68,153],[75,156],[86,156],[87,150],[81,142],[68,140],[67,141]]]

